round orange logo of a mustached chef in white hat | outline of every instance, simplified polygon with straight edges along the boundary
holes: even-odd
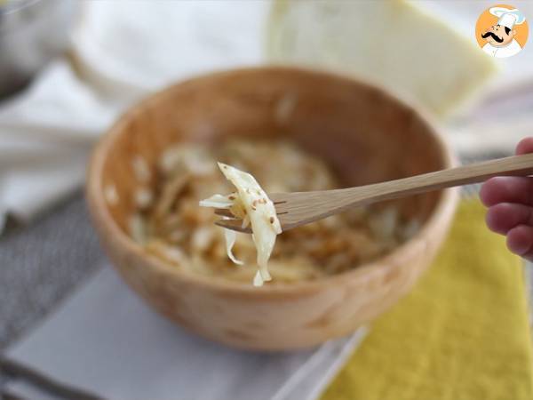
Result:
[[[483,52],[505,59],[521,52],[529,35],[524,14],[512,5],[497,4],[481,13],[475,38]]]

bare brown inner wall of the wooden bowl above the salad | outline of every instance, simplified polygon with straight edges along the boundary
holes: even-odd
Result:
[[[321,156],[343,186],[393,180],[449,166],[441,141],[412,108],[373,86],[296,68],[250,68],[177,84],[132,108],[100,145],[99,190],[115,186],[107,212],[127,232],[139,187],[132,160],[143,156],[156,185],[157,161],[180,141],[290,138]],[[275,162],[275,160],[273,160]],[[288,172],[290,173],[290,172]],[[220,179],[223,179],[222,175]],[[439,192],[399,202],[424,221]]]

